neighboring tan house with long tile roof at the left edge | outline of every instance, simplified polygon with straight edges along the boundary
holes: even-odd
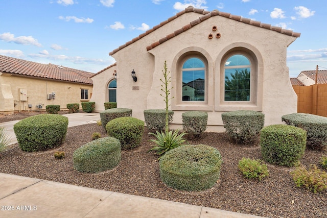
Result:
[[[0,113],[44,111],[46,105],[89,101],[94,75],[54,64],[41,64],[0,55]]]

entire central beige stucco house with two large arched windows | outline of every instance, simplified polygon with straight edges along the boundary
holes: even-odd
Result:
[[[114,81],[117,106],[131,108],[133,117],[144,120],[144,110],[165,108],[160,79],[167,61],[173,128],[181,127],[185,111],[207,112],[207,131],[224,131],[221,114],[234,110],[262,111],[265,125],[279,124],[282,115],[297,110],[286,53],[299,36],[241,16],[188,7],[110,52],[116,63],[92,77],[91,101],[97,111],[104,110]]]

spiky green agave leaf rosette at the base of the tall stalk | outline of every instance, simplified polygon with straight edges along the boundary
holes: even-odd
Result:
[[[183,136],[186,134],[185,132],[182,132],[179,134],[179,130],[175,130],[174,132],[171,130],[169,132],[158,132],[156,131],[156,134],[149,133],[151,135],[154,135],[157,139],[150,139],[150,141],[157,144],[157,146],[154,146],[150,151],[156,151],[156,154],[159,155],[158,160],[169,150],[175,149],[182,145],[183,142],[186,140],[183,138]]]

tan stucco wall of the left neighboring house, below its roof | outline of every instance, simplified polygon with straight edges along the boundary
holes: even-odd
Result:
[[[66,105],[69,103],[79,103],[81,108],[81,102],[85,101],[81,100],[81,89],[88,89],[86,101],[89,101],[92,93],[92,85],[89,84],[15,76],[0,72],[0,113],[45,111],[46,105],[53,104],[60,105],[60,110],[66,110]],[[48,100],[48,94],[52,92],[55,92],[55,99]],[[39,104],[42,105],[41,109],[37,108]]]

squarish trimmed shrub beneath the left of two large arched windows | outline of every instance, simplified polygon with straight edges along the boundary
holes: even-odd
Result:
[[[183,130],[197,138],[205,131],[207,122],[207,112],[188,111],[182,113]]]

